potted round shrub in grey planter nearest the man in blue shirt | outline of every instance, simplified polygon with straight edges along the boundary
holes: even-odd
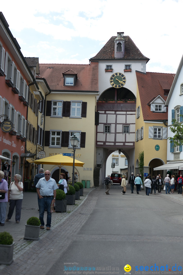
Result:
[[[24,239],[39,240],[41,222],[36,217],[31,217],[27,220]]]

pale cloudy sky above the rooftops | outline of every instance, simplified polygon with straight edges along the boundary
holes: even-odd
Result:
[[[183,54],[182,0],[9,0],[0,10],[40,63],[88,64],[119,31],[150,58],[148,72],[176,73]]]

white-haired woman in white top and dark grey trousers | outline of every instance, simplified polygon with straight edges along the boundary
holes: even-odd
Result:
[[[16,208],[15,221],[16,223],[20,222],[21,209],[22,209],[22,200],[23,200],[23,183],[21,182],[21,175],[16,174],[14,176],[14,182],[10,183],[8,191],[8,201],[10,202],[9,212],[6,219],[8,222],[12,215],[13,211]]]

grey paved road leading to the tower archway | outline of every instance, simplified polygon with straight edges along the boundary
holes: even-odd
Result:
[[[131,274],[144,274],[135,273],[135,266],[155,264],[159,274],[166,272],[166,265],[170,272],[175,265],[178,271],[183,267],[182,217],[181,195],[131,194],[129,186],[122,195],[120,186],[113,185],[107,196],[102,186],[23,254],[19,252],[11,266],[0,268],[0,274],[124,274],[126,264]],[[87,270],[69,270],[82,267]]]

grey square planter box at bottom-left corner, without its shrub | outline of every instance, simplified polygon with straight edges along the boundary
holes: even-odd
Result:
[[[10,245],[0,244],[0,264],[11,265],[13,262],[13,247],[14,243]]]

